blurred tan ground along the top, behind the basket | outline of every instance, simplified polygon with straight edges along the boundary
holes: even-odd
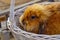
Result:
[[[30,2],[30,1],[33,1],[33,0],[16,0],[16,6]],[[36,1],[36,0],[34,0],[34,1]],[[41,0],[41,1],[53,1],[53,0]],[[54,1],[59,2],[60,0],[54,0]],[[0,10],[8,9],[9,5],[10,5],[10,0],[0,0]]]

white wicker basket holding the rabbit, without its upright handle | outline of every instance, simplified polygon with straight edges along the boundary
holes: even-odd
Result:
[[[49,3],[42,3],[49,4]],[[18,9],[15,11],[15,21],[18,24],[18,16],[20,16],[26,7]],[[18,16],[17,16],[18,15]],[[17,18],[17,19],[16,19]],[[21,30],[17,25],[11,26],[11,22],[8,20],[8,28],[14,35],[16,40],[60,40],[60,35],[43,35],[43,34],[34,34]]]

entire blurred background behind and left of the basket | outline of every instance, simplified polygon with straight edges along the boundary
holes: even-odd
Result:
[[[15,40],[11,32],[7,29],[7,19],[11,0],[0,0],[0,40]],[[16,9],[25,3],[38,0],[15,0]],[[41,2],[59,2],[60,0],[39,0]]]

